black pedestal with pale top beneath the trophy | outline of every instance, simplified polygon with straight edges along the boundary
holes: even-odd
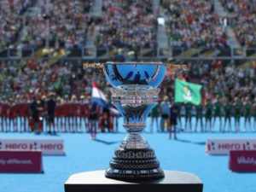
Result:
[[[164,171],[158,180],[125,182],[105,177],[105,171],[73,174],[65,192],[202,192],[201,179],[189,172]]]

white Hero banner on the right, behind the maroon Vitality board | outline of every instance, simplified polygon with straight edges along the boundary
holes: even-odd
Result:
[[[231,150],[256,150],[256,139],[207,139],[207,154],[228,155]]]

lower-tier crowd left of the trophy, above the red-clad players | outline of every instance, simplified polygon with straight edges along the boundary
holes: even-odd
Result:
[[[49,66],[38,61],[14,61],[0,63],[0,95],[5,99],[24,96],[48,96],[55,92],[57,96],[90,96],[91,80],[98,79],[102,89],[105,84],[96,73],[82,65],[70,63]],[[103,78],[103,77],[102,77]]]

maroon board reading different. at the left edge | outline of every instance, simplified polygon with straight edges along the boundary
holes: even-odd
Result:
[[[42,151],[0,151],[0,172],[43,172]]]

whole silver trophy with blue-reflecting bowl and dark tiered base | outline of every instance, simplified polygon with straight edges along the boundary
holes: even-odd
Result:
[[[106,177],[147,180],[165,177],[154,149],[142,136],[148,113],[158,103],[166,65],[158,62],[107,62],[103,72],[111,88],[112,102],[124,118],[127,135],[116,148]]]

